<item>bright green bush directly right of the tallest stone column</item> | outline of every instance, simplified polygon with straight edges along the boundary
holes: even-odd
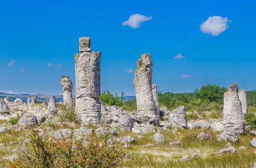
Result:
[[[109,92],[107,90],[107,92],[104,90],[101,94],[101,102],[104,104],[104,105],[110,105],[110,106],[113,106],[113,105],[116,105],[116,106],[119,106],[121,107],[123,105],[123,100],[124,100],[124,92],[121,93],[121,96],[117,96],[117,94],[115,93],[115,96],[113,94],[111,94],[111,92]]]

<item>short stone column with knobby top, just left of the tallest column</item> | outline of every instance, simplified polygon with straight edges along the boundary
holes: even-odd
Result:
[[[72,89],[73,89],[73,83],[69,76],[62,75],[60,84],[63,86],[63,101],[67,105],[73,104],[72,99]]]

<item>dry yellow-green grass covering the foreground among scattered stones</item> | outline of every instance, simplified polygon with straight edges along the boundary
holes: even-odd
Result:
[[[0,123],[5,123],[0,120]],[[53,130],[59,130],[64,128],[77,129],[81,126],[74,124],[70,127],[68,124],[56,125],[52,123],[46,123],[45,125],[38,125],[35,128],[41,128],[45,130],[46,127],[51,127]],[[88,125],[88,128],[93,128],[93,125]],[[130,157],[126,157],[121,163],[120,167],[253,167],[256,154],[255,148],[249,143],[253,136],[250,136],[246,131],[245,136],[239,136],[240,142],[231,142],[232,146],[236,150],[240,146],[246,147],[246,150],[238,151],[235,154],[216,155],[216,152],[226,148],[227,142],[218,142],[216,140],[217,134],[220,132],[210,132],[210,130],[200,129],[178,129],[178,133],[173,133],[172,130],[161,130],[157,127],[157,130],[164,135],[166,141],[163,144],[156,145],[152,142],[152,136],[155,133],[142,134],[140,136],[124,130],[119,130],[119,137],[131,136],[136,139],[136,144],[131,144],[129,148],[125,149],[129,153]],[[4,143],[5,148],[1,148],[0,152],[0,167],[6,167],[3,158],[16,154],[15,148],[21,147],[19,143],[10,143],[14,141],[22,141],[28,137],[31,129],[25,129],[23,132],[17,132],[8,130],[5,133],[0,134],[0,144]],[[200,132],[206,132],[210,135],[210,138],[205,141],[198,141],[196,139],[197,134]],[[46,132],[47,133],[47,132]],[[9,134],[10,136],[6,136]],[[48,134],[49,137],[52,134]],[[169,146],[170,142],[179,141],[182,146]],[[153,144],[153,146],[143,147],[146,144]],[[181,162],[180,158],[184,156],[192,157],[194,153],[197,153],[199,157],[191,158],[191,160]]]

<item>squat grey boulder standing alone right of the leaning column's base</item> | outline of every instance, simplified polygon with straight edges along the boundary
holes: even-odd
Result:
[[[179,106],[174,109],[169,115],[169,122],[172,127],[179,127],[187,129],[187,116],[185,106]]]

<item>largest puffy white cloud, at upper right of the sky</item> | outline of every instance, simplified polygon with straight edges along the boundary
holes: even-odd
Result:
[[[227,17],[222,18],[221,16],[212,16],[200,25],[200,29],[204,34],[218,36],[223,31],[227,30],[229,22],[231,21],[227,20]]]

